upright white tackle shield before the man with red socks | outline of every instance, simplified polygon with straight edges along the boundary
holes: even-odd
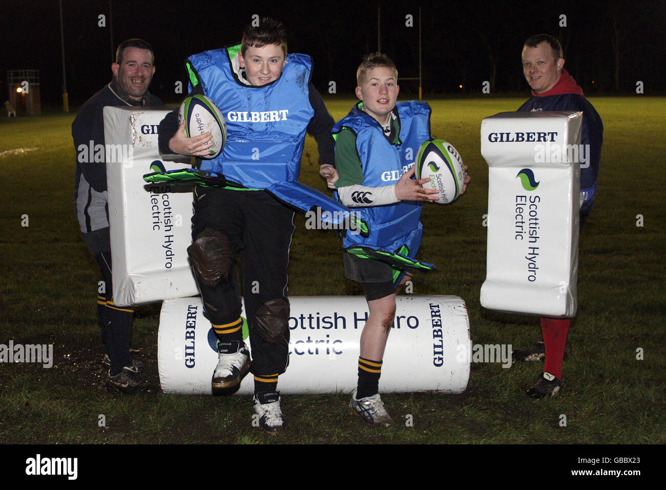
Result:
[[[484,308],[576,312],[581,112],[509,112],[481,123],[488,163]]]

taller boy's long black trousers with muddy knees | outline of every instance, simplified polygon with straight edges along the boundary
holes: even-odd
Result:
[[[254,327],[256,312],[266,301],[288,301],[287,267],[294,234],[294,211],[264,191],[196,187],[194,197],[192,240],[204,229],[212,228],[224,233],[234,251],[240,254],[252,373],[258,376],[284,373],[289,361],[288,317],[284,319],[284,339],[275,343],[258,335]],[[207,319],[215,325],[238,319],[240,291],[235,263],[231,264],[226,281],[214,287],[197,282]]]

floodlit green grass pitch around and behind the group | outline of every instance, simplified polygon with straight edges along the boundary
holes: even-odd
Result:
[[[456,203],[424,209],[421,257],[439,270],[415,282],[414,293],[462,297],[473,343],[527,347],[540,339],[537,317],[494,313],[479,304],[488,202],[480,121],[513,111],[524,99],[430,101],[432,132],[456,145],[472,183]],[[503,369],[500,363],[474,363],[462,395],[385,395],[398,421],[388,430],[349,417],[346,394],[284,396],[290,427],[277,438],[250,425],[250,397],[107,392],[94,295],[99,269],[73,214],[75,114],[2,118],[0,343],[51,343],[55,362],[51,369],[0,365],[0,443],[665,443],[666,99],[591,102],[605,125],[601,177],[580,241],[579,313],[569,331],[561,395],[541,401],[525,395],[540,364]],[[327,101],[336,120],[352,103]],[[310,137],[301,179],[324,189]],[[443,224],[435,225],[442,215]],[[637,226],[637,215],[643,226]],[[302,216],[291,257],[291,295],[361,294],[344,279],[336,237],[306,230]],[[330,273],[308,273],[313,263]],[[153,383],[159,307],[137,308],[133,333]],[[412,426],[400,423],[407,415]]]

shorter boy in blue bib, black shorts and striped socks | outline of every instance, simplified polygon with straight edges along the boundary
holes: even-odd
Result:
[[[418,101],[397,103],[398,70],[386,55],[366,57],[356,79],[359,102],[333,128],[340,201],[372,223],[368,237],[348,231],[343,241],[345,275],[361,283],[370,310],[349,408],[370,425],[388,426],[393,421],[378,392],[379,378],[396,313],[396,288],[411,277],[389,263],[388,255],[415,257],[422,235],[422,203],[438,199],[433,195],[437,191],[420,186],[429,179],[411,178],[414,162],[407,161],[430,139],[430,107]],[[373,251],[386,254],[387,261]]]

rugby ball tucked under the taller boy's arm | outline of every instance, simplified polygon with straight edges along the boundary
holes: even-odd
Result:
[[[201,157],[209,160],[217,157],[226,143],[226,123],[220,109],[205,95],[187,97],[178,109],[178,125],[187,121],[185,135],[193,136],[210,133],[213,145],[208,149],[209,155]]]

